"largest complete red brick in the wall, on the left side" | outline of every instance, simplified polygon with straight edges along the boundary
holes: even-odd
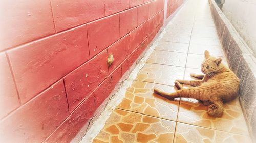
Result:
[[[7,52],[22,103],[89,59],[86,26]]]

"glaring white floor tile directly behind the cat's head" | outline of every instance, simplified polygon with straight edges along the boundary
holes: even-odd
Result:
[[[226,58],[222,58],[222,63],[224,65],[228,65]],[[196,69],[201,69],[201,64],[204,60],[204,55],[199,55],[199,54],[188,54],[187,56],[187,68],[196,68]]]

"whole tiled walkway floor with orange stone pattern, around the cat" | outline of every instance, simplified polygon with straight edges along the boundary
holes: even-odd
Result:
[[[168,26],[94,142],[250,142],[238,98],[213,118],[197,100],[153,93],[155,87],[173,92],[175,79],[200,73],[206,49],[227,64],[207,0],[188,0]]]

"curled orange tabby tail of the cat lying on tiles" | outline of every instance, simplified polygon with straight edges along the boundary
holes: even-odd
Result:
[[[220,117],[224,111],[222,101],[214,101],[208,108],[208,114],[212,117]]]

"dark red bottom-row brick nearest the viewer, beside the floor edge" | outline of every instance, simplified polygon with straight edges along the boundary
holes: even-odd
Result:
[[[91,94],[44,142],[71,142],[95,110],[94,96]]]

